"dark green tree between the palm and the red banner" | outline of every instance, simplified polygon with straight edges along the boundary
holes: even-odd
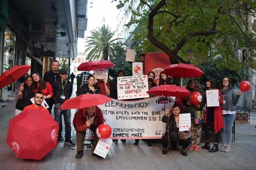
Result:
[[[125,61],[125,47],[122,42],[118,41],[114,45],[114,51],[110,55],[110,61],[115,64],[113,68],[108,68],[108,75],[116,78],[117,71],[125,71],[125,76],[132,75],[132,65],[130,62]]]

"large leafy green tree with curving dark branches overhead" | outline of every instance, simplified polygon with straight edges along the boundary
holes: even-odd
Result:
[[[122,8],[126,2],[119,0],[117,7]],[[248,28],[248,17],[256,17],[255,1],[140,0],[140,3],[148,9],[137,12],[129,6],[139,19],[126,23],[126,26],[139,23],[133,32],[134,40],[141,42],[137,51],[165,51],[172,64],[210,61],[220,70],[256,68],[256,34]],[[244,58],[239,57],[239,49],[246,51]],[[221,57],[216,59],[216,56]]]

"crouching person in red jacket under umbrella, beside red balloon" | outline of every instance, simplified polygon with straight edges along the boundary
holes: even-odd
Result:
[[[104,123],[102,110],[98,106],[91,106],[88,108],[79,109],[74,116],[73,125],[76,129],[76,159],[81,159],[83,156],[84,137],[87,129],[93,131],[94,140],[93,147],[95,148],[99,138],[96,135],[96,129],[99,125]],[[93,156],[97,156],[94,155]],[[99,158],[102,158],[99,156]]]

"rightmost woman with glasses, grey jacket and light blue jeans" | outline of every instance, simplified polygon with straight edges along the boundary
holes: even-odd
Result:
[[[222,117],[224,122],[224,128],[221,130],[222,147],[220,151],[230,152],[230,145],[232,141],[232,126],[236,116],[236,104],[241,96],[241,90],[237,92],[233,89],[231,80],[229,77],[222,77],[219,85],[221,91],[223,104]]]

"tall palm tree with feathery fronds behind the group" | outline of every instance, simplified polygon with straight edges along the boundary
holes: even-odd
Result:
[[[116,30],[117,31],[117,30]],[[115,41],[121,38],[113,39],[114,34],[116,31],[111,32],[110,28],[105,25],[102,28],[97,27],[97,30],[93,29],[91,32],[91,36],[87,37],[89,39],[87,41],[87,45],[85,47],[87,51],[90,51],[86,57],[86,59],[90,60],[108,60],[108,55],[114,52],[113,45],[115,45]]]

